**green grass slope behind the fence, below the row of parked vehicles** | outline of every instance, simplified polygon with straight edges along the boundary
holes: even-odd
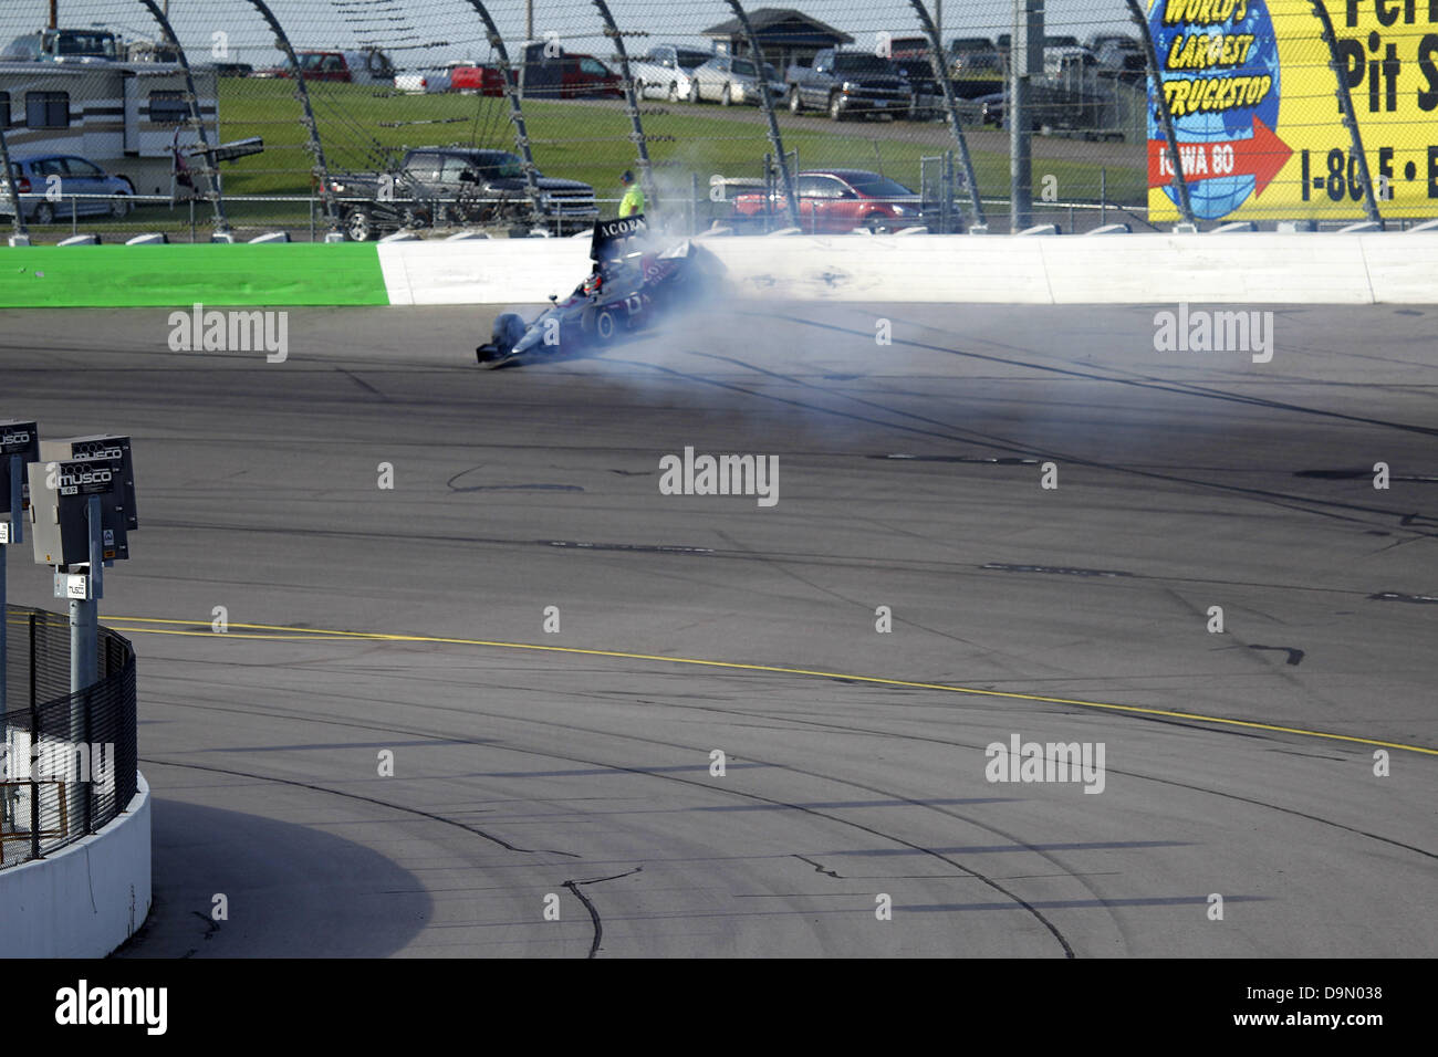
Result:
[[[374,168],[385,148],[433,144],[477,144],[513,148],[513,131],[505,99],[467,95],[395,95],[357,85],[315,83],[311,99],[321,142],[332,170]],[[618,108],[590,102],[525,102],[535,161],[545,175],[584,180],[601,198],[618,197],[617,177],[634,164],[628,118]],[[644,106],[644,132],[660,187],[670,194],[684,188],[690,174],[707,188],[709,177],[758,177],[769,151],[762,121],[755,111],[736,119],[715,105],[661,104]],[[262,155],[224,167],[224,187],[232,194],[305,194],[309,191],[309,152],[299,122],[299,104],[288,81],[223,78],[220,81],[221,138],[265,138]],[[820,116],[781,115],[787,150],[798,151],[802,168],[847,165],[881,170],[910,187],[919,183],[919,158],[952,147],[939,122],[847,122],[835,125]],[[994,139],[989,134],[984,137]],[[1055,154],[1070,145],[1055,145]],[[1071,144],[1093,148],[1093,144]],[[1078,151],[1074,151],[1078,152]],[[1037,150],[1035,150],[1037,154]],[[1089,150],[1084,154],[1093,155]],[[1107,175],[1107,200],[1142,203],[1145,173],[1135,164],[1133,148],[1119,144],[1116,161],[1047,157],[1035,161],[1035,197],[1045,175],[1057,180],[1063,200],[1099,197],[1100,170]],[[979,188],[985,197],[1007,197],[1007,150],[972,150]],[[1119,161],[1117,158],[1122,158]]]

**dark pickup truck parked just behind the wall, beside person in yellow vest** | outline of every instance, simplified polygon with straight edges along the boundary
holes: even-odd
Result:
[[[594,188],[536,174],[542,226],[571,234],[600,217]],[[519,155],[467,147],[420,147],[388,173],[335,173],[329,190],[345,234],[365,242],[401,227],[521,223],[532,219]]]

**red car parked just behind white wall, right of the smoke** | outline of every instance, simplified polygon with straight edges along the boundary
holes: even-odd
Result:
[[[923,223],[920,198],[896,180],[863,168],[825,168],[800,173],[800,226],[807,234],[830,234],[867,227],[897,232]],[[733,200],[736,220],[758,220],[766,214],[764,191],[739,194]],[[785,198],[775,194],[772,214],[787,216]]]

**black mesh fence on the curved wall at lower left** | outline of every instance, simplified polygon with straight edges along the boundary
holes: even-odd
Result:
[[[99,677],[70,693],[65,616],[9,607],[0,869],[99,831],[135,795],[135,651],[99,630]]]

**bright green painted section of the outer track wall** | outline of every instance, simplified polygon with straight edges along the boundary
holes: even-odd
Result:
[[[388,305],[370,243],[0,249],[0,306]]]

